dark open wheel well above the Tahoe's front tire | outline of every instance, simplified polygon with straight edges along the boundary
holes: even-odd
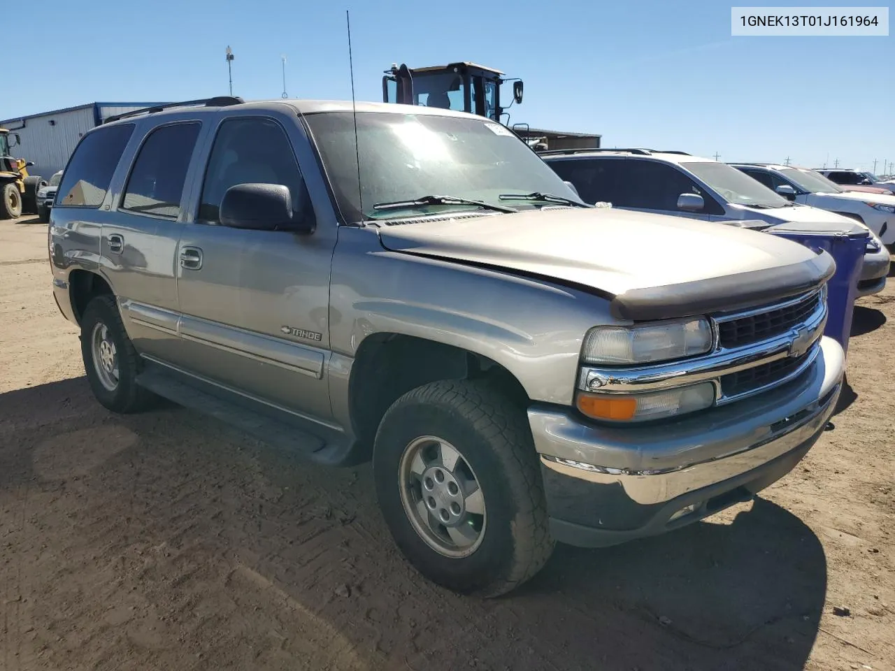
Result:
[[[524,387],[506,368],[460,347],[412,335],[376,334],[362,342],[348,385],[354,434],[364,458],[389,406],[411,389],[441,379],[485,378],[520,408],[529,403]]]

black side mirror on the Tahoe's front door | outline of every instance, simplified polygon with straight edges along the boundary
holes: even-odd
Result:
[[[306,212],[306,208],[300,208]],[[220,205],[220,222],[231,228],[253,231],[313,233],[313,217],[294,213],[292,194],[283,184],[235,184],[226,190]]]

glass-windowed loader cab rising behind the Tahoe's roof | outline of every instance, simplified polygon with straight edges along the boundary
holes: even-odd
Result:
[[[502,123],[501,117],[509,116],[500,101],[500,84],[505,81],[513,82],[513,99],[521,103],[523,82],[504,79],[503,72],[483,65],[452,63],[411,69],[393,64],[382,78],[382,100],[453,109]]]

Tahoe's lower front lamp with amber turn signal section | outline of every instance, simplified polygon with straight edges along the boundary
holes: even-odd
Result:
[[[575,404],[593,420],[646,421],[705,410],[715,402],[712,382],[678,386],[641,394],[591,394],[578,392]]]

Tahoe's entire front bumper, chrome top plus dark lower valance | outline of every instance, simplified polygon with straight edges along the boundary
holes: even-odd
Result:
[[[597,426],[570,410],[529,410],[554,538],[600,547],[695,522],[791,471],[839,399],[845,357],[824,337],[797,380],[674,422]]]

